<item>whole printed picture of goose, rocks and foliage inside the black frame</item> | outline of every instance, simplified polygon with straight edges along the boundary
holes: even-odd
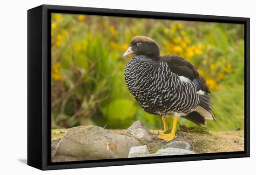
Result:
[[[51,161],[244,150],[244,25],[51,13]]]

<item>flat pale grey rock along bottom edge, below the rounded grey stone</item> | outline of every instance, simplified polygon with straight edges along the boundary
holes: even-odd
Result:
[[[165,148],[156,151],[154,154],[148,156],[173,156],[173,155],[184,155],[184,154],[195,154],[193,151],[184,150],[179,148]]]

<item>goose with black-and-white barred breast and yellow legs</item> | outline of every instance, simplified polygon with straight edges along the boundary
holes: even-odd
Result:
[[[123,56],[134,54],[125,67],[125,81],[139,105],[150,114],[160,115],[164,133],[158,138],[171,141],[175,137],[179,117],[205,125],[215,120],[208,86],[195,66],[181,56],[160,56],[159,45],[151,38],[135,36]],[[173,115],[169,134],[167,120]]]

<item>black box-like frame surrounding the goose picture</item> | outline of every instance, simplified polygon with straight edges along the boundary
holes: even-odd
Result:
[[[180,156],[51,162],[52,12],[244,24],[244,151]],[[41,5],[27,11],[27,164],[41,170],[249,157],[249,18]]]

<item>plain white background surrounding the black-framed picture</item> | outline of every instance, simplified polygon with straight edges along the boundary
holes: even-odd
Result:
[[[27,159],[27,9],[41,4],[88,6],[159,12],[194,13],[251,18],[251,108],[255,107],[255,23],[253,0],[2,0],[0,10],[0,172],[28,174],[198,174],[241,175],[255,169],[256,125],[251,110],[251,158],[174,162],[42,172]],[[238,97],[239,98],[239,97]],[[242,99],[241,99],[242,100]],[[228,105],[228,104],[227,104]],[[230,116],[227,116],[230,117]],[[8,125],[7,125],[8,124]],[[254,162],[253,162],[254,161]],[[255,173],[255,172],[253,172]],[[250,173],[250,174],[253,174]]]

